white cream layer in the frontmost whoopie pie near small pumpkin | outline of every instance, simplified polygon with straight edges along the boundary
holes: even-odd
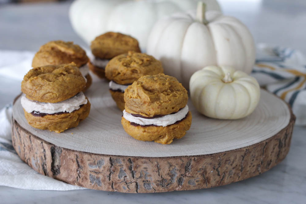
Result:
[[[174,114],[168,114],[159,118],[151,118],[151,119],[135,117],[130,113],[126,112],[125,110],[123,110],[123,118],[130,121],[131,123],[136,123],[139,125],[156,125],[156,126],[166,127],[185,118],[187,113],[188,113],[188,105],[186,105],[184,108],[182,108],[181,110],[177,111]]]

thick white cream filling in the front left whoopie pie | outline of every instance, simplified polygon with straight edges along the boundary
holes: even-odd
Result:
[[[59,113],[75,111],[80,108],[81,105],[87,104],[87,99],[83,92],[77,95],[57,103],[43,103],[36,100],[30,100],[25,95],[21,97],[21,105],[28,113],[32,111],[40,113]]]

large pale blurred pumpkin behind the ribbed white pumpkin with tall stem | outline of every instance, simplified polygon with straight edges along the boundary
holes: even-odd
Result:
[[[216,0],[202,0],[220,11]],[[69,17],[72,27],[88,44],[98,35],[113,31],[135,37],[145,51],[154,23],[165,15],[196,9],[198,0],[76,0]]]

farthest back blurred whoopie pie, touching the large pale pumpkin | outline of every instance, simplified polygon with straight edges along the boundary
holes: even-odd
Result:
[[[97,36],[91,42],[94,59],[89,62],[89,69],[100,78],[105,77],[105,66],[110,59],[127,51],[140,52],[138,41],[118,32],[107,32]]]

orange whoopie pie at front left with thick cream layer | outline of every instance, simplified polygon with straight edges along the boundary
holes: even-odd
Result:
[[[28,123],[57,133],[76,127],[90,111],[82,92],[85,85],[74,63],[31,69],[21,82],[21,105]]]

